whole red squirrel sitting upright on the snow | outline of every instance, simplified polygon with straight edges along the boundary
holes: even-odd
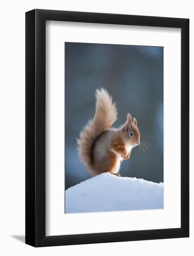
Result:
[[[128,159],[131,149],[140,144],[137,120],[127,114],[120,128],[111,128],[117,120],[117,109],[108,92],[96,90],[96,110],[78,139],[79,156],[87,170],[93,175],[104,172],[120,176],[120,162]]]

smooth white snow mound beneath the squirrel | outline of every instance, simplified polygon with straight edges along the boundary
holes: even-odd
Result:
[[[163,183],[102,173],[65,192],[65,213],[163,209]]]

